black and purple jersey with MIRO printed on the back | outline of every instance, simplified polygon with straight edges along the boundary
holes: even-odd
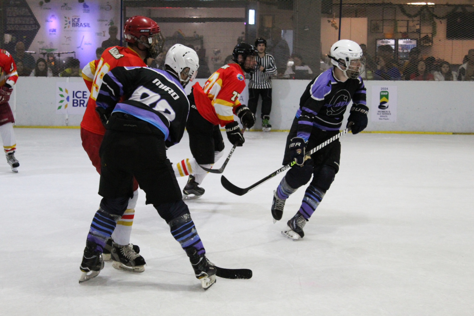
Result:
[[[105,74],[96,106],[150,123],[164,134],[168,147],[181,140],[189,113],[181,83],[164,70],[148,67],[115,67]]]

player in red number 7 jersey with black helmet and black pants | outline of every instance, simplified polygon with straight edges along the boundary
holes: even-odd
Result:
[[[248,128],[255,124],[252,111],[238,99],[245,88],[245,72],[253,73],[258,68],[258,51],[253,45],[241,43],[234,48],[232,56],[235,63],[220,67],[206,81],[204,88],[195,83],[188,96],[191,108],[186,130],[193,158],[173,165],[177,177],[189,175],[182,190],[184,199],[196,199],[204,194],[199,184],[207,172],[200,166],[210,168],[222,157],[224,140],[219,125],[226,126],[231,144],[242,146],[245,139],[234,121],[234,114]]]

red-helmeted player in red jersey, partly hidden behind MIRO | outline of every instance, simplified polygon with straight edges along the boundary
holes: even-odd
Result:
[[[99,174],[99,148],[105,128],[99,114],[95,111],[95,100],[99,94],[103,76],[117,66],[146,67],[147,63],[151,63],[163,50],[164,38],[160,33],[160,27],[150,18],[143,16],[129,18],[125,22],[124,35],[128,47],[106,48],[100,56],[100,60],[90,62],[82,70],[82,77],[91,90],[91,96],[81,122],[82,147]],[[138,183],[135,179],[133,191],[133,197],[128,201],[127,210],[118,220],[112,238],[108,242],[104,260],[114,261],[112,266],[116,269],[143,272],[145,260],[138,255],[139,247],[129,244],[138,199]]]

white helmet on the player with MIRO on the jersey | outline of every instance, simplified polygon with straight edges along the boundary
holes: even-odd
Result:
[[[186,85],[188,81],[193,81],[198,74],[199,57],[194,49],[181,44],[175,44],[166,53],[164,64],[171,67],[178,74],[182,85]],[[189,68],[189,70],[185,68]],[[186,75],[185,80],[180,76],[183,71]]]

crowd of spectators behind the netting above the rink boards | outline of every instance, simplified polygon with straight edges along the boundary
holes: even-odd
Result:
[[[101,47],[96,49],[96,56],[100,55],[105,48],[119,45],[117,39],[118,29],[115,26],[109,28],[109,39],[102,42]],[[253,42],[253,41],[251,41]],[[365,44],[360,45],[365,56],[365,72],[362,77],[365,80],[414,80],[414,81],[473,81],[474,80],[474,49],[470,49],[464,56],[461,65],[450,64],[433,56],[424,56],[419,47],[413,47],[408,60],[395,58],[391,45],[381,45],[377,48],[374,58],[367,52]],[[191,47],[194,48],[194,47]],[[210,69],[207,63],[206,50],[203,47],[196,48],[200,58],[198,78],[208,78],[216,69]],[[11,52],[19,76],[30,77],[81,77],[82,71],[78,59],[66,57],[58,59],[55,54],[48,53],[46,58],[35,58],[25,52],[25,45],[18,42],[15,51]],[[311,69],[310,66],[298,54],[290,54],[290,49],[283,37],[272,46],[267,47],[266,53],[275,58],[277,74],[274,79],[313,79],[320,72],[331,67],[329,58],[321,54],[320,69]],[[152,67],[163,68],[164,54],[158,56]],[[225,58],[222,64],[231,62],[232,56]]]

